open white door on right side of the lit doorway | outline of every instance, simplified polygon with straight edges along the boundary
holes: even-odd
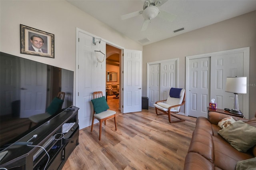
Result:
[[[124,49],[122,113],[142,111],[142,51]]]

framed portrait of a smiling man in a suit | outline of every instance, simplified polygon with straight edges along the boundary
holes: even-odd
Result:
[[[54,34],[20,24],[20,53],[54,58]]]

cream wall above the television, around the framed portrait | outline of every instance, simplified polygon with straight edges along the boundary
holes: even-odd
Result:
[[[76,28],[127,49],[142,45],[64,0],[0,0],[0,51],[76,71]],[[55,58],[20,53],[20,24],[54,34]]]

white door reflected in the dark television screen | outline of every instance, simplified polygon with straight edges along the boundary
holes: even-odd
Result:
[[[20,59],[20,118],[45,113],[47,66],[43,63]]]

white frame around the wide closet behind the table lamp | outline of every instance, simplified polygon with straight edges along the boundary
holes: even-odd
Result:
[[[226,54],[232,54],[232,53],[244,53],[244,68],[243,68],[243,76],[247,77],[247,84],[249,84],[249,59],[250,59],[250,47],[242,47],[237,49],[229,49],[224,51],[217,51],[212,53],[204,53],[199,55],[190,55],[186,56],[186,89],[189,89],[188,85],[188,63],[190,59],[196,59],[196,58],[203,58],[203,57],[212,57],[216,55],[226,55]],[[188,98],[188,95],[186,95],[186,101],[190,101]],[[244,117],[246,119],[249,118],[249,88],[247,88],[247,93],[243,94],[243,113]],[[185,107],[185,115],[188,116],[188,108]]]

